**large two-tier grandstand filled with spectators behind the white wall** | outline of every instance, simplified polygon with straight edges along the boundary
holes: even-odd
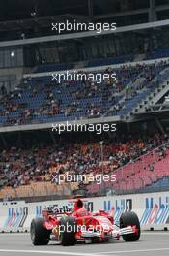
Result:
[[[70,7],[51,1],[50,8],[37,0],[25,14],[14,2],[13,16],[0,20],[0,200],[168,190],[167,1],[105,0],[104,7],[99,0],[73,0]],[[68,19],[116,22],[117,29],[52,31],[51,22]],[[108,80],[52,80],[68,71],[87,78],[106,73]],[[68,121],[115,123],[117,131],[52,131]],[[66,174],[86,181],[52,181]],[[116,182],[91,182],[91,174],[114,174]]]

